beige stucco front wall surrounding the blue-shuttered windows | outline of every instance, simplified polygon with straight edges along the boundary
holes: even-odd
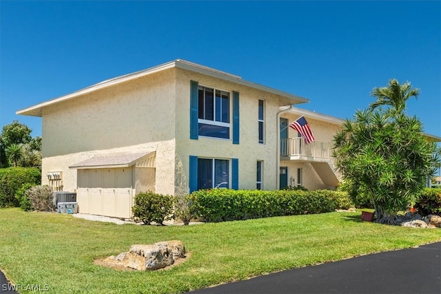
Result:
[[[203,137],[199,137],[198,140],[189,139],[190,81],[197,81],[199,85],[230,92],[230,109],[232,109],[232,92],[239,92],[239,145],[232,143],[232,136],[229,140]],[[259,99],[265,101],[265,144],[258,143]],[[276,154],[278,132],[276,116],[279,111],[280,100],[283,100],[283,98],[274,94],[194,72],[177,70],[176,193],[187,193],[188,191],[190,155],[207,158],[238,158],[239,189],[256,189],[256,161],[263,160],[263,189],[276,189],[278,160]],[[230,134],[232,134],[231,129]]]

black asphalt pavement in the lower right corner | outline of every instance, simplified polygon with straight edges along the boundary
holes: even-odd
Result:
[[[192,291],[228,293],[441,293],[441,242],[328,262]]]

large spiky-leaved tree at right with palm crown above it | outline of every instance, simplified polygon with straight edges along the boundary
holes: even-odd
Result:
[[[396,223],[398,211],[415,202],[440,160],[420,120],[405,112],[418,94],[410,83],[390,80],[371,92],[376,101],[369,109],[358,110],[334,135],[336,167],[349,180],[349,194],[356,204],[369,200],[378,222]]]

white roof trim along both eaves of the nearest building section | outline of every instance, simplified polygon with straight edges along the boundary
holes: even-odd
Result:
[[[42,111],[41,109],[43,109],[44,107],[47,107],[49,105],[54,105],[57,103],[61,103],[63,101],[67,101],[70,100],[72,98],[84,95],[84,94],[89,94],[91,92],[103,89],[105,87],[110,87],[112,85],[118,85],[120,83],[125,83],[126,81],[130,81],[133,80],[135,78],[140,78],[142,76],[147,76],[149,74],[154,74],[156,72],[161,72],[163,70],[167,70],[170,69],[172,67],[177,67],[177,68],[181,68],[183,70],[189,70],[192,72],[197,72],[199,74],[204,74],[207,76],[212,76],[215,78],[220,78],[223,79],[225,81],[231,81],[234,83],[238,83],[239,85],[245,85],[247,87],[252,87],[254,89],[257,90],[262,90],[265,92],[269,92],[271,94],[277,94],[280,96],[284,96],[286,98],[292,99],[295,102],[293,104],[296,103],[308,103],[309,100],[307,98],[303,98],[300,96],[296,96],[294,94],[289,94],[287,92],[283,92],[280,90],[276,90],[274,88],[271,87],[267,87],[264,85],[258,85],[256,83],[252,83],[252,82],[248,82],[248,81],[244,81],[240,76],[236,76],[234,74],[228,74],[227,72],[222,72],[220,70],[214,70],[210,67],[206,67],[203,65],[198,65],[196,63],[192,63],[189,61],[184,61],[182,59],[177,59],[175,61],[170,61],[168,63],[163,63],[161,65],[156,65],[154,67],[150,67],[146,70],[141,70],[139,72],[133,72],[131,74],[125,74],[123,76],[117,76],[115,78],[110,78],[108,80],[102,81],[100,83],[96,83],[94,85],[91,85],[89,87],[85,87],[81,90],[78,90],[76,92],[72,92],[70,94],[64,95],[64,96],[60,96],[48,101],[44,101],[43,103],[39,103],[37,105],[33,105],[31,107],[27,107],[24,109],[20,109],[17,112],[15,112],[16,114],[23,114],[23,115],[28,115],[28,116],[41,116],[42,115]]]

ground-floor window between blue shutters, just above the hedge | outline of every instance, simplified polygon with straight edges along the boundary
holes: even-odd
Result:
[[[229,160],[198,158],[198,190],[229,187]]]

